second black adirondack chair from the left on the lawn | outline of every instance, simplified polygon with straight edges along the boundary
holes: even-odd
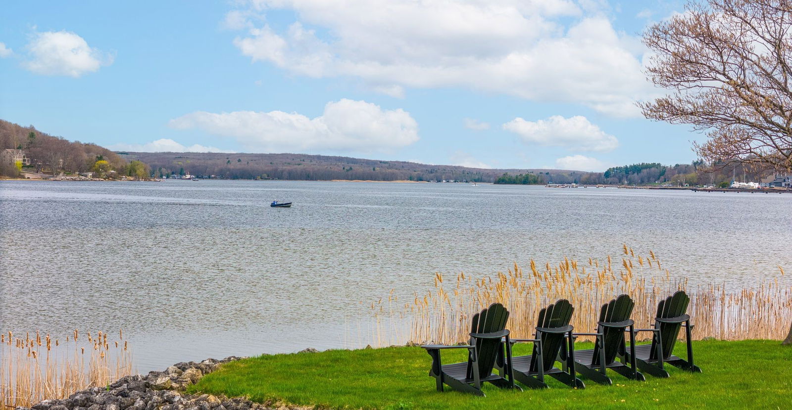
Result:
[[[531,355],[512,357],[512,371],[518,382],[534,389],[546,389],[547,375],[570,387],[585,387],[575,377],[573,327],[569,325],[573,311],[569,300],[560,299],[539,311],[534,339],[512,339],[512,343],[534,342]],[[561,369],[555,367],[556,360],[563,363]]]

